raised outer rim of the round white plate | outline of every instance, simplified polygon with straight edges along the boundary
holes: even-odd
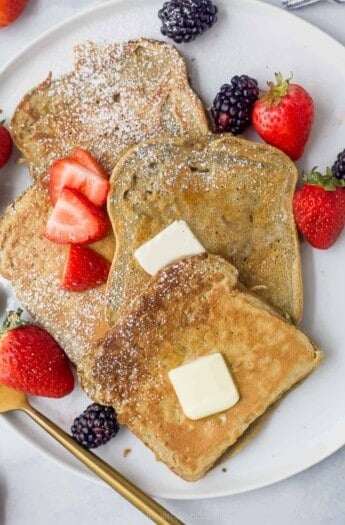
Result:
[[[283,17],[283,19],[288,18],[288,20],[291,21],[291,23],[296,24],[298,27],[302,28],[305,27],[306,30],[311,33],[312,35],[315,35],[315,38],[317,36],[322,35],[323,39],[326,39],[328,41],[328,45],[334,47],[337,52],[342,54],[345,57],[345,46],[339,42],[336,38],[331,36],[330,34],[326,33],[322,29],[318,28],[317,26],[313,25],[311,22],[308,22],[295,14],[293,14],[290,11],[284,10],[282,7],[279,7],[277,5],[272,5],[270,3],[264,2],[262,0],[231,0],[233,4],[243,5],[248,4],[248,8],[255,8],[255,9],[263,9],[267,10],[268,12],[274,12],[279,17]],[[102,2],[101,4],[98,4],[96,6],[91,6],[87,9],[82,10],[79,13],[76,13],[72,17],[70,17],[68,20],[64,20],[62,22],[59,22],[58,24],[54,25],[50,29],[44,31],[41,33],[37,38],[32,39],[29,44],[23,48],[21,48],[9,61],[5,62],[5,64],[0,68],[0,81],[3,78],[3,76],[8,75],[10,73],[11,68],[16,66],[16,63],[25,58],[27,55],[29,55],[36,46],[44,42],[46,39],[52,38],[55,34],[59,33],[60,31],[63,31],[65,29],[68,29],[70,26],[73,26],[74,24],[78,23],[79,21],[82,21],[84,18],[88,18],[93,13],[98,13],[103,10],[107,10],[111,8],[111,6],[117,6],[120,4],[127,4],[127,8],[131,8],[131,4],[137,5],[140,3],[140,0],[107,0]],[[162,36],[162,40],[169,41],[168,39],[164,38]],[[169,41],[169,43],[171,43]],[[181,49],[178,47],[178,49]],[[183,48],[182,48],[183,49]],[[38,450],[43,456],[47,457],[50,461],[53,461],[55,464],[59,465],[60,467],[66,469],[67,471],[70,471],[73,474],[76,474],[78,476],[81,476],[84,479],[88,479],[92,482],[96,482],[100,485],[104,485],[105,483],[97,478],[92,472],[84,472],[83,470],[79,469],[77,465],[65,463],[60,458],[56,457],[54,453],[50,453],[47,451],[42,444],[35,441],[30,436],[25,436],[23,432],[18,428],[15,424],[13,424],[7,417],[2,418],[2,421],[4,421],[4,424],[12,428],[12,430],[21,436],[26,442],[29,442],[36,450]],[[218,497],[224,497],[224,496],[231,496],[236,494],[243,494],[246,492],[250,492],[256,489],[269,487],[270,485],[277,483],[279,481],[286,480],[296,474],[299,474],[300,472],[303,472],[304,470],[317,465],[318,463],[324,461],[326,458],[337,452],[339,449],[341,449],[345,445],[345,435],[340,438],[340,434],[338,439],[336,439],[337,436],[333,436],[333,439],[331,441],[327,442],[327,446],[323,448],[323,452],[321,454],[317,454],[317,459],[308,459],[305,462],[300,462],[298,468],[294,468],[292,472],[290,473],[284,473],[282,474],[276,474],[271,476],[269,481],[267,479],[262,482],[253,482],[251,484],[248,484],[247,487],[242,488],[235,488],[232,490],[231,486],[228,489],[225,489],[223,491],[217,490],[216,493],[208,493],[208,492],[201,492],[198,494],[181,494],[180,492],[174,493],[172,491],[169,491],[169,493],[160,492],[159,494],[155,494],[154,492],[150,492],[150,495],[157,498],[163,498],[163,499],[177,499],[177,500],[198,500],[198,499],[213,499]]]

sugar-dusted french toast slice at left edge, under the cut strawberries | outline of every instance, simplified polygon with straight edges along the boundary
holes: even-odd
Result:
[[[42,180],[6,210],[0,220],[0,269],[12,282],[21,304],[78,364],[85,349],[108,328],[105,285],[85,292],[60,289],[68,247],[43,237],[50,211],[49,191]],[[111,261],[113,235],[90,247]]]

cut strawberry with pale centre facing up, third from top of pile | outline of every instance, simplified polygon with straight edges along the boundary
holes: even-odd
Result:
[[[64,188],[48,219],[43,236],[58,244],[89,243],[110,230],[106,213],[79,191]]]

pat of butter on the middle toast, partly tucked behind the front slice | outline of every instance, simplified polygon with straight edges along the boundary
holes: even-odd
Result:
[[[185,221],[174,221],[165,230],[140,246],[134,257],[150,275],[182,257],[205,253]]]

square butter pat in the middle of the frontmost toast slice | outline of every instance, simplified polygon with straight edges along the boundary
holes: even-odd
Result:
[[[189,419],[201,419],[227,410],[240,398],[219,353],[190,361],[170,370],[168,375],[182,410]]]

